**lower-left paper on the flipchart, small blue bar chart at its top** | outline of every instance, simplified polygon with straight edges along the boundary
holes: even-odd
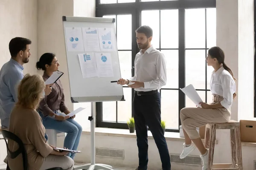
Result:
[[[83,78],[98,77],[94,54],[78,54],[78,57]]]

